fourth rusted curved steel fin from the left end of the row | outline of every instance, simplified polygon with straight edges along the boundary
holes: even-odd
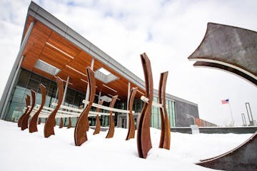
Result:
[[[44,137],[45,138],[49,138],[51,135],[54,135],[54,126],[56,125],[55,116],[61,106],[61,102],[64,97],[64,84],[63,84],[61,78],[56,77],[56,82],[57,82],[57,88],[58,88],[58,103],[56,105],[56,108],[49,115],[49,118],[47,118],[46,123],[44,125]]]

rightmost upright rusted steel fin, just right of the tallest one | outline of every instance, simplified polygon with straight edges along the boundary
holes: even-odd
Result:
[[[168,119],[168,113],[166,110],[166,82],[167,82],[168,72],[161,73],[159,89],[158,89],[158,103],[163,105],[160,108],[161,113],[161,138],[159,143],[159,148],[170,149],[171,145],[171,127]]]

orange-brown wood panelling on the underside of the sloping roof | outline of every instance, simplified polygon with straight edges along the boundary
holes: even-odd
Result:
[[[31,21],[35,21],[33,17],[29,16],[28,22],[26,24],[26,28],[28,28],[29,23]],[[46,42],[51,43],[53,46],[61,49],[65,53],[73,56],[74,59],[69,58],[64,53],[56,50],[55,48],[46,44]],[[57,75],[64,81],[66,81],[67,76],[70,77],[69,82],[73,83],[72,85],[69,84],[69,88],[74,88],[75,90],[79,90],[82,93],[86,93],[86,86],[87,83],[81,81],[84,79],[87,81],[86,76],[81,75],[80,73],[76,73],[71,68],[66,67],[66,65],[75,68],[77,71],[86,74],[86,67],[91,66],[92,56],[85,51],[82,51],[81,48],[75,46],[70,41],[66,40],[66,38],[60,36],[58,33],[51,31],[48,27],[41,24],[39,21],[35,21],[34,28],[31,31],[31,36],[29,36],[28,43],[26,44],[24,55],[24,62],[22,63],[22,68],[26,68],[29,71],[33,71],[34,73],[38,73],[41,76],[49,78],[55,81],[54,76],[51,76],[49,73],[41,71],[37,68],[34,68],[34,65],[37,59],[41,59],[46,63],[55,66],[56,68],[61,69],[61,72]],[[139,58],[138,58],[139,62]],[[121,75],[115,72],[113,69],[109,68],[109,66],[105,66],[100,61],[94,61],[94,71],[98,70],[99,68],[105,68],[110,73],[117,76],[119,79],[116,81],[112,81],[111,83],[104,83],[106,86],[117,91],[114,92],[109,88],[103,86],[103,82],[96,79],[96,93],[102,92],[102,95],[119,95],[121,100],[127,99],[127,88],[128,82],[125,78],[122,78]],[[133,83],[131,83],[131,87],[136,87]],[[141,92],[144,92],[141,88],[138,88]],[[140,98],[141,93],[136,93],[135,98]]]

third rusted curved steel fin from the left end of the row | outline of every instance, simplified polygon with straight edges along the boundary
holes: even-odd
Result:
[[[34,132],[38,131],[36,122],[39,118],[39,113],[43,109],[44,103],[46,101],[46,87],[43,84],[40,85],[40,90],[41,90],[41,95],[42,95],[41,106],[40,106],[39,110],[36,111],[36,113],[33,115],[33,117],[31,118],[31,120],[29,122],[29,133],[34,133]]]

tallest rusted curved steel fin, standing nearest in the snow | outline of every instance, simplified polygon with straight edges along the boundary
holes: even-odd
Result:
[[[141,115],[138,122],[137,133],[137,148],[138,157],[146,158],[148,151],[151,149],[150,137],[150,119],[151,119],[151,105],[153,102],[153,76],[151,72],[151,62],[146,56],[146,53],[141,54],[141,62],[143,66],[143,74],[146,83],[146,98],[148,103],[143,104]]]

